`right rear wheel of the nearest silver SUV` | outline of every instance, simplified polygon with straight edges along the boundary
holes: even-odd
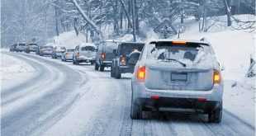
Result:
[[[222,120],[222,102],[220,102],[220,106],[208,114],[208,122],[210,123],[220,123]]]

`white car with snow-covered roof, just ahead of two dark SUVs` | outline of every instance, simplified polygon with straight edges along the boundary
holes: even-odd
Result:
[[[73,52],[73,64],[95,63],[97,46],[90,43],[83,43],[75,47]]]

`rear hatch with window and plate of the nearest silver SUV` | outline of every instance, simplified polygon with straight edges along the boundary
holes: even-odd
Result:
[[[199,47],[159,45],[156,48],[152,49],[154,56],[145,63],[145,87],[153,90],[211,90],[213,68],[201,67],[194,62],[198,60],[198,54],[201,54]]]

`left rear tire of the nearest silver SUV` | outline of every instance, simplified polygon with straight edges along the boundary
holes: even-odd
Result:
[[[131,98],[131,106],[130,106],[130,119],[132,120],[140,120],[142,119],[142,106],[136,105]]]

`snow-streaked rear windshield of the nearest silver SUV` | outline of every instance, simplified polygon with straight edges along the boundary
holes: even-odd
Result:
[[[147,58],[158,60],[190,60],[194,61],[197,57],[201,58],[198,54],[211,54],[211,48],[208,45],[172,45],[171,42],[163,42],[151,44],[148,50]]]

